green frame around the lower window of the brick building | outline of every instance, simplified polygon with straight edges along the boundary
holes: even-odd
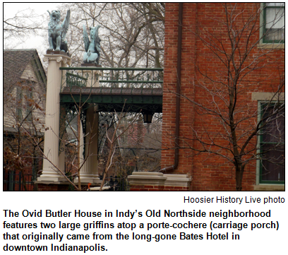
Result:
[[[281,102],[284,102],[284,101],[280,101],[280,103]],[[271,105],[274,105],[277,102],[271,102],[271,101],[267,101],[267,100],[258,101],[258,112],[260,113],[260,114],[258,114],[258,122],[263,117],[263,109],[264,109],[265,105],[268,105],[269,103]],[[262,152],[262,148],[261,148],[261,144],[263,143],[262,139],[263,139],[263,136],[262,136],[262,134],[260,134],[259,137],[258,137],[258,153]],[[268,143],[270,143],[270,142],[268,142]],[[268,144],[268,143],[263,143],[263,144]],[[256,180],[256,185],[258,185],[258,184],[279,184],[279,185],[285,184],[285,181],[263,180],[262,179],[262,172],[263,172],[263,165],[262,165],[262,159],[261,159],[261,156],[260,156],[259,160],[257,160],[257,180]]]

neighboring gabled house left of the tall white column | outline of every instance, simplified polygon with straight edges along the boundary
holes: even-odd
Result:
[[[33,190],[42,169],[47,79],[36,49],[4,50],[4,190]],[[33,141],[35,139],[35,141]]]

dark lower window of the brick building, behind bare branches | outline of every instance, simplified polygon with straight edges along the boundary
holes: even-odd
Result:
[[[284,184],[284,107],[261,103],[261,119],[266,121],[260,134],[260,184]]]

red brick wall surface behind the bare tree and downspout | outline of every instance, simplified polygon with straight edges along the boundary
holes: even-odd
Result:
[[[178,24],[178,6],[179,4],[166,5],[165,14],[165,59],[164,59],[164,95],[163,95],[163,150],[162,151],[162,167],[167,167],[174,164],[174,132],[175,132],[175,102],[176,95],[176,63],[177,63],[177,24]],[[260,4],[237,4],[236,11],[244,12],[237,18],[236,26],[238,28],[247,22],[251,17],[251,13],[255,13]],[[213,83],[211,80],[204,78],[202,73],[207,73],[210,78],[215,81],[223,81],[224,73],[219,75],[217,71],[224,70],[224,64],[219,58],[208,49],[195,34],[208,40],[210,33],[217,35],[225,50],[231,49],[231,43],[227,37],[227,28],[218,20],[225,20],[224,6],[222,4],[184,4],[183,18],[183,35],[182,35],[182,64],[181,64],[181,94],[199,104],[207,104],[211,107],[212,97],[207,91],[200,88],[201,83],[212,90],[212,88],[220,88],[219,83]],[[259,21],[251,35],[251,41],[258,40],[259,37]],[[234,28],[235,29],[235,28]],[[246,36],[246,34],[241,35]],[[217,42],[220,45],[220,42]],[[241,45],[244,47],[244,45]],[[248,55],[248,63],[253,61],[253,58],[268,52],[268,49],[258,49],[255,47]],[[239,94],[239,109],[242,113],[239,118],[252,114],[257,110],[257,102],[251,101],[252,92],[271,92],[273,87],[279,83],[279,73],[284,71],[284,49],[273,50],[269,54],[270,59],[263,57],[263,63],[268,64],[258,71],[249,73],[244,81],[242,93]],[[223,55],[221,56],[223,59]],[[277,60],[277,61],[276,61]],[[239,61],[239,59],[236,59]],[[222,79],[222,80],[221,80]],[[223,95],[224,100],[215,98],[217,106],[223,112],[227,112],[226,95]],[[193,104],[181,97],[180,111],[180,137],[181,146],[188,148],[189,146],[201,150],[203,147],[200,143],[193,141],[193,130],[197,131],[199,136],[202,136],[203,141],[209,141],[208,135],[215,134],[213,139],[222,146],[227,146],[227,142],[220,136],[225,130],[220,124],[219,119],[211,115],[199,114],[199,109],[194,108]],[[257,119],[251,119],[257,121]],[[248,121],[241,123],[241,129],[244,131],[249,126]],[[239,135],[239,134],[238,134]],[[255,139],[252,143],[255,143]],[[240,144],[243,143],[242,139]],[[252,146],[252,144],[251,144]],[[235,190],[235,171],[231,162],[227,162],[222,157],[208,155],[207,153],[193,153],[191,149],[180,150],[179,152],[179,167],[169,173],[191,174],[192,190]],[[231,155],[228,155],[231,157]],[[256,184],[256,162],[249,163],[244,173],[242,182],[243,190],[253,190],[253,185]]]

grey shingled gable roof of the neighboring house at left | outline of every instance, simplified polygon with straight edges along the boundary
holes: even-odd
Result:
[[[35,67],[38,81],[44,83],[46,87],[46,74],[36,49],[7,49],[4,50],[3,57],[4,88],[23,81],[20,77],[30,63]]]

